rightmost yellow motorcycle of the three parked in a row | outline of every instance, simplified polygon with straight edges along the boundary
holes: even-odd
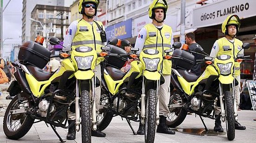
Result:
[[[249,43],[244,43],[242,49],[249,49]],[[249,60],[246,59],[248,56],[238,54],[234,59],[228,55],[221,55],[212,61],[213,58],[201,47],[191,52],[203,55],[204,59],[197,60],[197,63],[205,62],[208,66],[200,76],[190,73],[188,70],[194,65],[195,57],[184,50],[174,51],[171,58],[173,64],[171,84],[176,88],[176,92],[171,95],[169,104],[171,114],[166,124],[175,128],[184,121],[187,112],[191,112],[199,115],[205,130],[208,131],[202,117],[216,119],[221,116],[222,122],[226,123],[227,137],[233,140],[235,119],[237,119],[234,89],[238,84],[234,78],[234,64]],[[221,112],[214,117],[216,98]]]

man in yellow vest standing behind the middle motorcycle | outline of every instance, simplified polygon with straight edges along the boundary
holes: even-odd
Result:
[[[149,17],[152,23],[145,25],[138,33],[134,47],[139,48],[139,53],[144,49],[157,49],[164,56],[164,50],[171,48],[172,30],[168,25],[164,25],[166,12],[168,9],[166,0],[153,0],[149,7]],[[175,134],[165,124],[166,117],[170,113],[168,104],[170,100],[170,83],[171,83],[171,61],[164,60],[162,63],[162,73],[164,75],[164,84],[160,86],[159,90],[159,125],[157,132],[165,134]],[[139,124],[137,134],[143,135],[144,128]]]

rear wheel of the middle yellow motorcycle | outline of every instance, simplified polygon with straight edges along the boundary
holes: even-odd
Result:
[[[111,104],[110,99],[107,97],[106,94],[101,95],[100,104],[107,105]],[[97,129],[99,131],[103,131],[106,127],[110,124],[113,118],[113,112],[107,108],[102,108],[99,110],[99,114],[97,114]]]

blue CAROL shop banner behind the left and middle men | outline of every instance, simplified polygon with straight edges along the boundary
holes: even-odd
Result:
[[[130,38],[131,37],[131,21],[132,19],[128,19],[118,24],[108,26],[105,29],[107,34],[107,39],[110,39],[112,37],[117,37],[118,39]]]

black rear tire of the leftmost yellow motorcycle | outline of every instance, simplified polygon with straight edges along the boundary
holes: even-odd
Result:
[[[21,99],[28,99],[30,97],[26,93],[20,93],[20,94],[21,94]],[[34,123],[34,119],[26,113],[14,114],[14,115],[9,115],[8,113],[14,109],[27,108],[27,107],[29,108],[31,106],[32,106],[32,103],[28,102],[28,100],[24,100],[21,103],[18,103],[18,96],[15,96],[12,99],[12,101],[9,103],[7,107],[7,110],[4,115],[4,120],[3,120],[3,130],[7,138],[17,140],[21,137],[24,137]]]

